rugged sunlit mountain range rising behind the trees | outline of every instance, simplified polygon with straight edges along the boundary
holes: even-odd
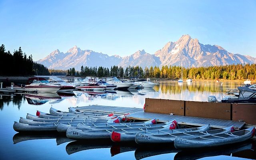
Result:
[[[126,57],[118,55],[94,52],[92,50],[81,50],[77,46],[70,48],[67,52],[54,50],[48,56],[37,61],[50,69],[67,70],[75,68],[80,70],[81,66],[150,66],[176,65],[183,67],[220,66],[228,64],[256,63],[256,58],[241,54],[232,54],[221,46],[201,44],[198,39],[192,39],[189,35],[183,35],[176,42],[168,42],[154,54],[138,50]]]

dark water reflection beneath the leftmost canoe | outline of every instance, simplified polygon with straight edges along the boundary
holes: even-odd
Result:
[[[58,138],[58,144],[61,144],[61,143],[64,143],[64,142],[69,142],[69,141],[73,141],[73,140],[70,140],[69,138],[66,138],[66,136],[64,135],[61,135],[61,134],[58,134],[58,133],[16,133],[14,134],[12,140],[13,140],[13,143],[16,144],[18,142],[22,142],[22,141],[26,141],[26,140],[39,140],[39,139],[55,139],[56,138],[56,141],[57,141],[57,138]]]

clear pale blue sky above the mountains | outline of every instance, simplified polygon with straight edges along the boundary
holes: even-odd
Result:
[[[150,54],[183,34],[256,57],[255,0],[0,0],[0,43],[33,60],[53,50]]]

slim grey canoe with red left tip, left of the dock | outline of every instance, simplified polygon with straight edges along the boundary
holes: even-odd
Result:
[[[110,116],[114,116],[114,114],[85,114],[85,113],[72,113],[72,114],[49,114],[49,113],[44,113],[41,111],[36,111],[36,116],[40,116],[40,117],[73,117],[73,116],[88,116],[88,117],[102,117],[102,118],[106,118],[106,117],[110,117]]]

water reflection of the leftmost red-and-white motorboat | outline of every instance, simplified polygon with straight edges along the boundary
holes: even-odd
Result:
[[[32,105],[41,105],[45,104],[49,100],[61,99],[57,93],[50,92],[38,92],[37,94],[25,94],[25,98],[28,101],[28,104]]]

